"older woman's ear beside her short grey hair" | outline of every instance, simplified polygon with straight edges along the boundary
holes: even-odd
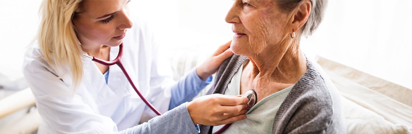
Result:
[[[302,0],[297,5],[297,8],[293,11],[292,30],[294,32],[300,30],[309,18],[309,14],[312,9],[312,3],[310,0]],[[292,31],[291,30],[291,31]]]

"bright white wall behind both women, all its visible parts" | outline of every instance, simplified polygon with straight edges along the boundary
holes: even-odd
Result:
[[[23,48],[33,39],[41,0],[0,0],[0,74],[21,76]],[[211,53],[232,39],[225,22],[232,0],[132,0],[157,28],[166,51]],[[410,0],[329,0],[325,19],[301,46],[412,89]]]

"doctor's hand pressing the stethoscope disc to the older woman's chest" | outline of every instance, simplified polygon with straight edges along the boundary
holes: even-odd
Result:
[[[194,124],[223,125],[246,119],[248,98],[222,94],[205,95],[187,103]]]

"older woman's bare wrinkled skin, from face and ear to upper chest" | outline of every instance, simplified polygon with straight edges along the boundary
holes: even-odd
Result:
[[[302,0],[292,12],[283,12],[275,0],[236,0],[226,16],[235,35],[231,49],[249,58],[243,67],[241,93],[254,89],[258,101],[296,83],[306,72],[299,49],[300,28],[311,2]],[[296,32],[294,38],[291,33]]]

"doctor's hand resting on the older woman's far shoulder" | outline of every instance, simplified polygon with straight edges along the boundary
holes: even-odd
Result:
[[[210,58],[196,68],[196,73],[200,79],[205,81],[218,70],[224,60],[233,55],[232,50],[230,50],[231,43],[232,40],[219,46],[218,50],[216,50]]]

